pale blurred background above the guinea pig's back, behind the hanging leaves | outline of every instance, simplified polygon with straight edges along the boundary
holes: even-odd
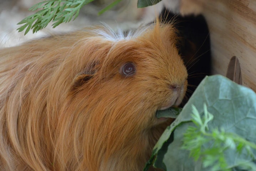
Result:
[[[137,8],[137,0],[122,0],[111,10],[98,16],[98,12],[113,0],[95,0],[85,5],[75,21],[62,23],[56,28],[48,24],[43,30],[32,34],[32,31],[24,35],[16,29],[23,18],[33,14],[28,9],[41,0],[0,0],[0,48],[15,46],[29,39],[45,37],[58,32],[68,32],[81,29],[85,26],[106,23],[113,29],[121,27],[124,30],[137,28],[142,23],[154,20],[155,14],[162,9],[162,4],[143,9]]]

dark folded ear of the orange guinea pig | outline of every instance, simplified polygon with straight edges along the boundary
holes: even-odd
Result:
[[[81,73],[79,73],[74,81],[73,81],[73,88],[79,88],[83,84],[87,83],[90,79],[93,78],[94,74],[96,73],[95,65],[93,64],[90,67],[85,68],[85,70]]]

